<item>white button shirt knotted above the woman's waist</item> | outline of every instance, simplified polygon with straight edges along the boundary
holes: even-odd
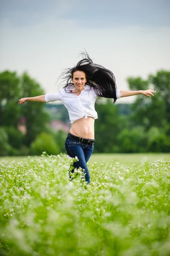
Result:
[[[60,100],[69,112],[71,124],[83,116],[85,116],[85,119],[88,116],[97,119],[98,113],[95,111],[95,101],[98,96],[95,90],[90,88],[89,85],[85,84],[84,90],[77,96],[75,93],[69,92],[69,90],[75,89],[74,85],[71,85],[66,87],[66,89],[62,88],[60,93],[47,93],[45,95],[45,101],[49,103]],[[116,97],[117,99],[121,98],[119,90],[116,90]]]

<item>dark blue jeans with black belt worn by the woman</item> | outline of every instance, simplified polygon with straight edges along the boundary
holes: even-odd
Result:
[[[89,175],[89,169],[87,168],[87,162],[89,158],[91,157],[92,151],[94,148],[94,143],[89,144],[89,143],[82,143],[78,142],[77,140],[74,140],[72,138],[66,137],[66,142],[65,142],[65,149],[67,154],[70,157],[78,157],[78,161],[73,163],[70,166],[69,170],[69,177],[72,179],[70,172],[74,172],[75,168],[81,167],[83,169],[83,172],[85,174],[85,180],[89,184],[90,183],[90,175]]]

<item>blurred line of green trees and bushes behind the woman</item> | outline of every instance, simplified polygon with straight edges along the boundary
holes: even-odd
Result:
[[[170,152],[170,72],[160,70],[147,80],[127,79],[130,90],[154,87],[153,97],[138,95],[133,104],[95,104],[94,153]],[[0,73],[0,155],[65,153],[66,133],[52,131],[52,115],[45,103],[18,99],[45,94],[40,84],[27,73],[18,76],[6,70]],[[118,100],[119,101],[119,100]],[[121,100],[120,100],[121,102]],[[45,108],[46,106],[46,108]],[[63,122],[68,122],[66,108],[58,107]],[[26,133],[18,130],[24,125]]]

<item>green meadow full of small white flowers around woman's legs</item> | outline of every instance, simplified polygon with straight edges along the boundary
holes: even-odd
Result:
[[[126,167],[65,154],[0,162],[0,255],[170,255],[170,162]]]

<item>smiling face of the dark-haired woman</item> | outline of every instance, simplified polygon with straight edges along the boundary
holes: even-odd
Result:
[[[72,82],[74,83],[75,90],[83,90],[86,81],[86,74],[83,71],[75,71],[73,73]]]

